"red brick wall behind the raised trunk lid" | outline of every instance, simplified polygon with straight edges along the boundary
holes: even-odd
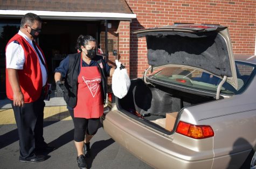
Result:
[[[220,24],[229,27],[235,54],[253,55],[256,35],[256,1],[126,0],[137,15],[130,31],[174,23]],[[130,78],[142,77],[147,64],[145,38],[130,34]]]

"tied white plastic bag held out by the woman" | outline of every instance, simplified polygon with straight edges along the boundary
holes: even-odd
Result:
[[[123,98],[127,95],[130,88],[130,79],[127,73],[127,69],[121,69],[121,62],[115,60],[116,69],[112,75],[112,91],[118,98]]]

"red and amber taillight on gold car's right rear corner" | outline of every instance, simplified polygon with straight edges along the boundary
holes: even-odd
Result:
[[[196,139],[214,136],[214,132],[210,125],[194,125],[182,121],[178,123],[176,132]]]

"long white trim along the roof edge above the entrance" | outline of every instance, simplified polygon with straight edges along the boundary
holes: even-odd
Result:
[[[42,19],[60,20],[130,20],[136,18],[131,13],[110,13],[110,12],[60,12],[60,11],[32,11],[32,10],[0,10],[1,18],[22,17],[26,13],[36,13]]]

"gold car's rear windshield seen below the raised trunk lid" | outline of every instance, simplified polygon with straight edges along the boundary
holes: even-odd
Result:
[[[248,81],[250,80],[251,76],[254,75],[254,68],[255,67],[253,65],[236,61],[238,90],[236,90],[228,82],[225,82],[220,93],[233,95],[243,91],[248,85]],[[148,76],[148,78],[149,80],[154,79],[176,86],[210,91],[213,93],[217,92],[218,85],[220,81],[222,81],[222,79],[218,78],[217,76],[199,71],[198,69],[172,66],[156,68],[154,72]]]

